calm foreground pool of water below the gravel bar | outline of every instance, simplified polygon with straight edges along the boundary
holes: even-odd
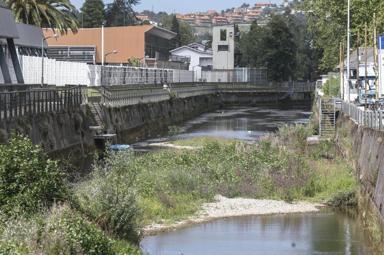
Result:
[[[375,254],[356,209],[234,217],[145,237],[153,255]]]

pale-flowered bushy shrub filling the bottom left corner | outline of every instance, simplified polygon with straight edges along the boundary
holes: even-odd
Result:
[[[32,219],[10,220],[0,243],[0,254],[114,254],[98,226],[68,205],[53,206]]]

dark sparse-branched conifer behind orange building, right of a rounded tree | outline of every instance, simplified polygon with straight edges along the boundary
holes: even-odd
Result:
[[[136,18],[133,7],[139,0],[114,0],[106,9],[108,27],[113,26],[132,26],[138,19]]]

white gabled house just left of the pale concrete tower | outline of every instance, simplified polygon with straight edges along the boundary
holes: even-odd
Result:
[[[204,45],[199,43],[191,43],[170,51],[172,55],[190,56],[189,70],[195,71],[195,77],[201,77],[201,71],[212,70],[213,58],[212,49],[208,48],[204,51]],[[200,66],[197,66],[200,65]]]

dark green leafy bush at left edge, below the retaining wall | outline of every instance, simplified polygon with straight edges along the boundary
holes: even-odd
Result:
[[[45,158],[22,135],[12,133],[8,145],[0,145],[0,210],[29,213],[62,197],[63,173],[57,161]]]

